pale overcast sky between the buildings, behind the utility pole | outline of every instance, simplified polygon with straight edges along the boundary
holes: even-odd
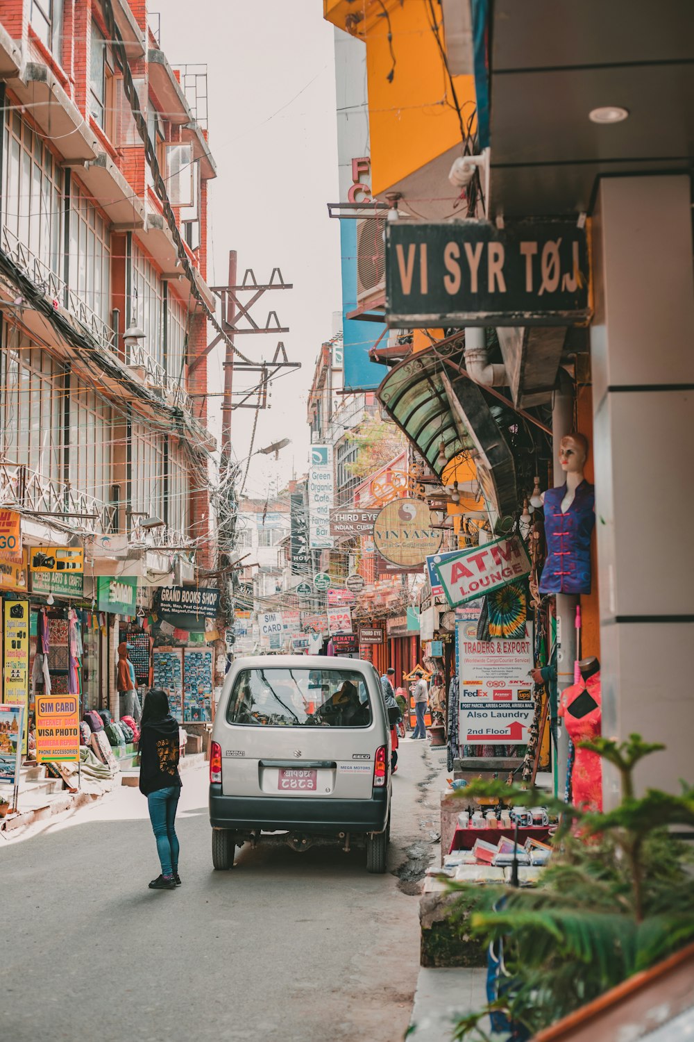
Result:
[[[217,166],[209,182],[208,282],[227,282],[229,250],[236,249],[239,281],[253,268],[265,282],[279,266],[294,287],[266,293],[252,313],[264,325],[276,311],[290,332],[236,341],[255,361],[272,357],[282,340],[289,359],[302,363],[272,386],[272,407],[258,417],[256,448],[292,440],[279,463],[264,455],[251,461],[247,492],[264,496],[291,477],[292,463],[298,474],[306,470],[307,392],[341,307],[338,222],[326,206],[338,198],[333,27],[320,0],[165,0],[160,9],[170,63],[208,67],[209,143]],[[222,390],[222,357],[212,356],[210,391]],[[221,398],[210,398],[216,435],[220,408]],[[249,453],[253,417],[252,410],[233,414],[239,458]]]

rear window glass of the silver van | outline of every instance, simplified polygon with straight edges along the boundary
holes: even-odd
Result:
[[[228,723],[254,727],[368,727],[371,704],[361,673],[343,669],[243,669]]]

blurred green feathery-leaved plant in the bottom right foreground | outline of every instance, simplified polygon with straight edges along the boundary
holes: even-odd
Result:
[[[679,795],[648,789],[637,797],[636,765],[662,745],[639,735],[582,744],[620,777],[621,802],[613,810],[588,813],[499,782],[465,789],[466,799],[541,801],[562,823],[537,887],[452,885],[461,891],[461,935],[464,908],[466,934],[471,927],[487,948],[502,946],[505,966],[496,997],[459,1021],[455,1040],[486,1038],[480,1024],[488,1015],[510,1023],[505,1029],[514,1039],[530,1038],[694,940],[693,859],[669,830],[694,825],[694,787],[683,782]]]

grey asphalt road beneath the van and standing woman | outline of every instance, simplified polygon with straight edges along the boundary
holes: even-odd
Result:
[[[443,763],[401,744],[381,876],[363,850],[327,847],[245,847],[214,872],[202,768],[183,774],[174,892],[147,887],[159,867],[136,789],[0,839],[0,1038],[400,1042],[419,962],[407,879],[432,852]]]

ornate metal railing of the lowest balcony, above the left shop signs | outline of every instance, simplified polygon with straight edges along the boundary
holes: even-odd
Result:
[[[65,518],[72,528],[101,535],[118,530],[118,506],[113,503],[104,503],[86,492],[38,474],[25,464],[0,463],[0,504],[51,515],[56,521],[60,521],[61,515],[72,515]]]

